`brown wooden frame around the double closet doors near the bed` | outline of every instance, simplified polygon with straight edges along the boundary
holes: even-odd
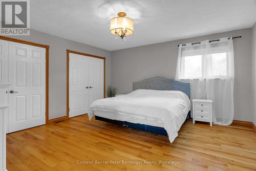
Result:
[[[86,54],[86,53],[81,53],[81,52],[76,52],[76,51],[71,51],[67,49],[67,115],[65,117],[62,117],[63,120],[69,119],[69,53],[74,53],[74,54],[78,54],[78,55],[83,55],[83,56],[88,56],[88,57],[94,57],[94,58],[99,58],[99,59],[103,59],[103,95],[105,98],[105,57],[100,57],[100,56],[95,56],[95,55],[91,55],[91,54]]]

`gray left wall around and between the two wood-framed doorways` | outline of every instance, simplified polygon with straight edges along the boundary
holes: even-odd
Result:
[[[66,116],[66,50],[106,57],[106,87],[111,84],[110,51],[31,30],[30,36],[13,38],[49,45],[49,119]],[[84,37],[86,38],[86,37]]]

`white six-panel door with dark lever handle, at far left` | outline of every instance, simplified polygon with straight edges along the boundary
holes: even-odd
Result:
[[[8,133],[46,123],[46,49],[9,41]]]

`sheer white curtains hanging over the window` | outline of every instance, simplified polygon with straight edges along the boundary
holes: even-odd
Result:
[[[190,99],[211,99],[212,121],[229,125],[234,115],[233,40],[179,46],[176,80],[190,82]]]

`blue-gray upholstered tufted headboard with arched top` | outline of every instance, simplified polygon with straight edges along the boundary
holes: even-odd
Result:
[[[138,89],[150,90],[178,90],[190,98],[190,83],[155,77],[133,83],[133,91]]]

